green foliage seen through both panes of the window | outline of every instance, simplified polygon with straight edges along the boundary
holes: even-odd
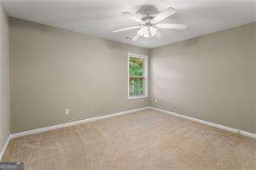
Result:
[[[130,96],[143,96],[145,90],[144,59],[130,57]]]

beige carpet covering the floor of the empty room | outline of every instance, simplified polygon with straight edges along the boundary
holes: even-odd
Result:
[[[11,140],[25,170],[255,170],[256,140],[154,110]]]

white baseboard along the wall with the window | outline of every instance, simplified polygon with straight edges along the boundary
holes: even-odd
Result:
[[[10,139],[13,139],[13,138],[16,138],[16,137],[21,137],[21,136],[24,136],[24,135],[38,134],[38,133],[42,133],[42,132],[49,131],[49,130],[54,130],[54,129],[61,129],[61,128],[65,128],[65,127],[68,127],[68,126],[73,126],[73,125],[76,125],[76,124],[94,122],[94,121],[110,118],[110,117],[113,117],[113,116],[125,115],[125,114],[128,114],[128,113],[132,113],[132,112],[136,112],[136,111],[140,111],[140,110],[146,110],[146,109],[149,109],[149,107],[138,108],[138,109],[135,109],[135,110],[121,111],[121,112],[112,113],[112,114],[109,114],[109,115],[106,115],[106,116],[96,116],[96,117],[93,117],[93,118],[88,118],[88,119],[84,119],[84,120],[80,120],[80,121],[74,121],[74,122],[71,122],[71,123],[62,123],[62,124],[58,124],[58,125],[54,125],[54,126],[40,128],[40,129],[32,129],[32,130],[29,130],[29,131],[24,131],[24,132],[11,134]]]

